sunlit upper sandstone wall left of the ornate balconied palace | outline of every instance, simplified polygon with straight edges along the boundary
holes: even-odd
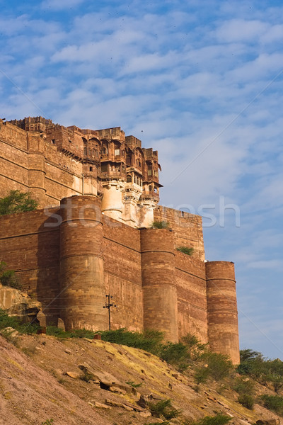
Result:
[[[40,208],[59,205],[62,198],[83,193],[82,174],[81,162],[58,151],[38,133],[9,123],[0,125],[0,197],[18,189],[30,191]]]

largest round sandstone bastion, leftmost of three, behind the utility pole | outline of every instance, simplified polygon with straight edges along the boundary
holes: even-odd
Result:
[[[67,330],[107,329],[100,199],[64,198],[60,214],[60,316]]]

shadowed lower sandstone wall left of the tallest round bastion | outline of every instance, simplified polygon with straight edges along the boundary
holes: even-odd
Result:
[[[42,302],[47,323],[57,323],[59,315],[59,228],[54,227],[56,223],[57,220],[47,217],[43,210],[0,217],[0,259],[17,271],[23,289]]]

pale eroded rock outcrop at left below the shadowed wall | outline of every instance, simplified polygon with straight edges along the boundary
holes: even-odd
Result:
[[[23,322],[37,322],[41,302],[32,300],[27,293],[0,283],[0,309],[9,316],[18,317]]]

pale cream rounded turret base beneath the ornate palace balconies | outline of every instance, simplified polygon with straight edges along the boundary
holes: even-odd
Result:
[[[120,180],[103,181],[101,208],[105,215],[118,221],[122,221],[124,214],[124,205],[122,203],[124,186],[125,182]]]

